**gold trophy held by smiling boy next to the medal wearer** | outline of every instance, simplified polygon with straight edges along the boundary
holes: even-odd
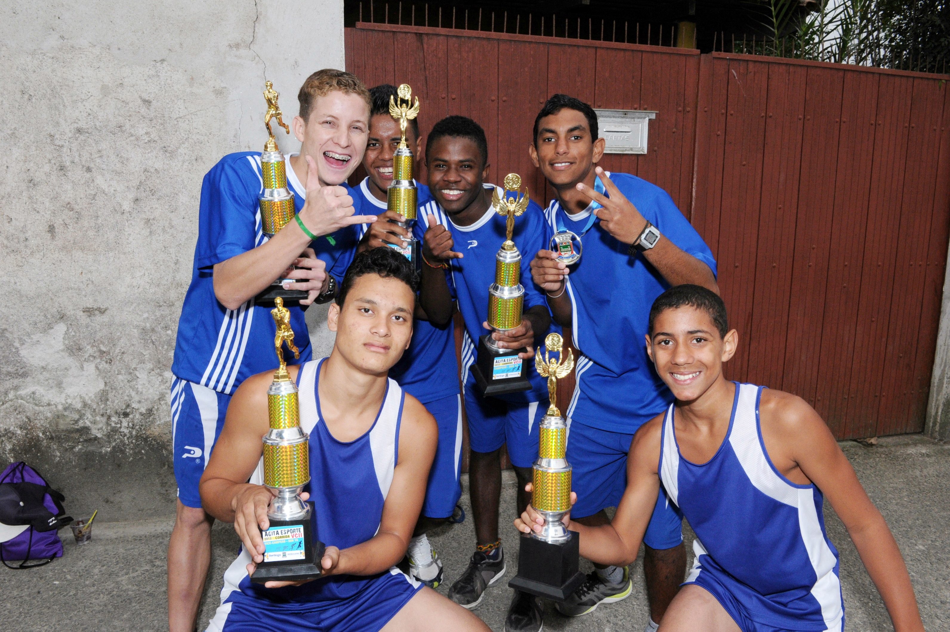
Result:
[[[506,239],[495,255],[495,283],[488,288],[488,326],[493,331],[508,331],[522,324],[524,288],[521,284],[522,253],[511,240],[515,231],[515,217],[528,208],[528,190],[522,192],[522,177],[508,174],[504,177],[504,194],[496,190],[491,196],[495,212],[507,216]],[[482,395],[502,395],[531,388],[528,366],[518,357],[526,349],[503,349],[495,344],[491,334],[479,338],[478,362],[472,374]]]

